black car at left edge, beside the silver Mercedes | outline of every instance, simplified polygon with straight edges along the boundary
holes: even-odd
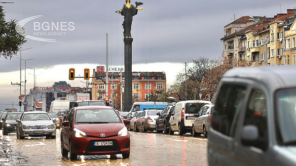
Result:
[[[3,135],[8,135],[8,133],[16,132],[16,121],[19,120],[22,112],[7,113],[5,118],[2,118],[2,133]]]

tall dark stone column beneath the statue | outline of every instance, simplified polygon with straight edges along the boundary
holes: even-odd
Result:
[[[124,38],[124,111],[132,108],[132,42],[133,38]]]

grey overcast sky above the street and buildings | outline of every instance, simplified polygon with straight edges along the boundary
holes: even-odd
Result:
[[[125,0],[7,0],[1,4],[6,20],[21,21],[40,16],[24,25],[32,37],[51,39],[41,42],[27,39],[22,47],[22,59],[30,68],[39,68],[37,86],[51,86],[66,81],[72,86],[85,86],[82,79],[70,81],[69,68],[76,76],[83,69],[106,65],[106,33],[109,40],[109,66],[124,65],[123,16],[115,13]],[[242,16],[273,17],[296,6],[295,0],[141,0],[143,10],[133,17],[131,35],[132,70],[165,72],[168,83],[184,70],[184,62],[208,57],[220,58],[223,27]],[[131,1],[135,4],[135,1]],[[56,30],[51,24],[59,25]],[[49,23],[49,31],[47,23]],[[43,27],[42,27],[43,24]],[[63,26],[61,29],[61,25]],[[53,29],[53,30],[52,30]],[[49,34],[48,34],[49,33]],[[42,35],[41,35],[42,34]],[[44,35],[45,34],[45,35]],[[11,60],[0,59],[0,104],[17,104],[20,82],[20,54]],[[22,81],[24,81],[22,62]],[[81,71],[81,72],[80,72]],[[33,70],[27,68],[27,89],[33,88]],[[92,72],[91,72],[92,74]],[[27,91],[28,93],[28,91]],[[22,94],[24,88],[22,87]],[[0,105],[0,110],[9,105]],[[14,106],[16,107],[16,106]]]

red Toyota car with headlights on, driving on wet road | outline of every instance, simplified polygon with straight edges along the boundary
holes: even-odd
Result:
[[[130,156],[130,135],[112,107],[80,106],[70,110],[61,130],[62,156],[76,160],[77,155]]]

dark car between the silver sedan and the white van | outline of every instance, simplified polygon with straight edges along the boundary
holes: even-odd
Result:
[[[159,117],[156,118],[156,132],[160,133],[164,131],[164,133],[168,134],[169,133],[169,121],[171,118],[171,113],[174,111],[175,106],[173,105],[168,105],[166,106],[161,113],[157,113]],[[169,115],[170,114],[170,115]]]

